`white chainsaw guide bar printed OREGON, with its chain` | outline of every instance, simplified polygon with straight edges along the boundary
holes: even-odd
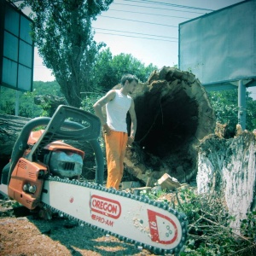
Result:
[[[185,214],[146,195],[49,176],[44,180],[41,201],[65,218],[156,254],[177,255],[183,251],[187,238]]]

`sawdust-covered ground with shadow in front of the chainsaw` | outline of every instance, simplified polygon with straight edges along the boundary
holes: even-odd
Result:
[[[155,255],[67,218],[38,218],[0,197],[0,255]]]

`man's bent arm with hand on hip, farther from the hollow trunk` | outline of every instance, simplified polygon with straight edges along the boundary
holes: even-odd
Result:
[[[102,107],[104,107],[108,102],[113,101],[115,97],[115,91],[109,90],[108,93],[105,96],[102,96],[94,105],[94,111],[96,113],[96,116],[101,120],[101,123],[103,125],[104,131],[108,133],[109,127],[107,125],[107,120],[104,118],[102,113]]]

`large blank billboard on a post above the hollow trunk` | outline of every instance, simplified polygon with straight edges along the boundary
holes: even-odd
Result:
[[[179,68],[203,85],[256,78],[256,0],[179,24]]]

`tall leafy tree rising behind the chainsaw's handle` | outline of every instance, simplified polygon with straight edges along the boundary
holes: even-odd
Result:
[[[24,0],[34,20],[32,38],[44,65],[52,70],[67,102],[80,107],[80,92],[89,90],[92,63],[101,44],[93,40],[91,21],[113,0]]]

